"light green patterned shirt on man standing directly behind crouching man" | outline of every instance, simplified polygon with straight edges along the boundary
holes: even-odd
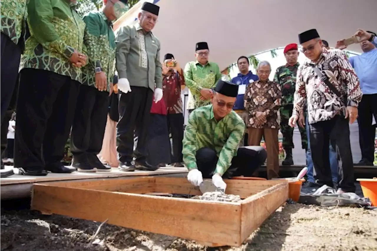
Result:
[[[187,110],[196,109],[211,103],[211,100],[200,100],[202,88],[211,89],[221,79],[219,65],[208,62],[201,65],[198,61],[188,62],[184,70],[186,86],[189,88]]]

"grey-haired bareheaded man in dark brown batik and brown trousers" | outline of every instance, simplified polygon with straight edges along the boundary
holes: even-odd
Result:
[[[267,178],[279,177],[279,123],[277,111],[280,108],[281,88],[270,81],[271,65],[267,61],[258,64],[259,80],[247,86],[244,103],[248,112],[247,123],[249,145],[260,145],[262,136],[267,150]]]

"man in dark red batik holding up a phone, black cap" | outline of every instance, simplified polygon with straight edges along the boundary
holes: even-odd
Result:
[[[169,64],[175,66],[167,67]],[[167,106],[167,125],[173,139],[172,162],[174,166],[183,166],[182,139],[184,118],[181,89],[185,88],[185,80],[182,69],[174,59],[173,54],[168,53],[164,56],[162,77],[163,99]]]

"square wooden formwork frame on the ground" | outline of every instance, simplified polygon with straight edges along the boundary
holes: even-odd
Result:
[[[225,180],[239,203],[146,195],[201,195],[186,178],[33,184],[31,208],[152,233],[195,240],[207,246],[240,246],[288,198],[285,180]]]

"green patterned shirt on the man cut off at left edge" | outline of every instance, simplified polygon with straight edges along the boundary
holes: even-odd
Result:
[[[15,43],[25,31],[27,0],[0,0],[0,32]]]

